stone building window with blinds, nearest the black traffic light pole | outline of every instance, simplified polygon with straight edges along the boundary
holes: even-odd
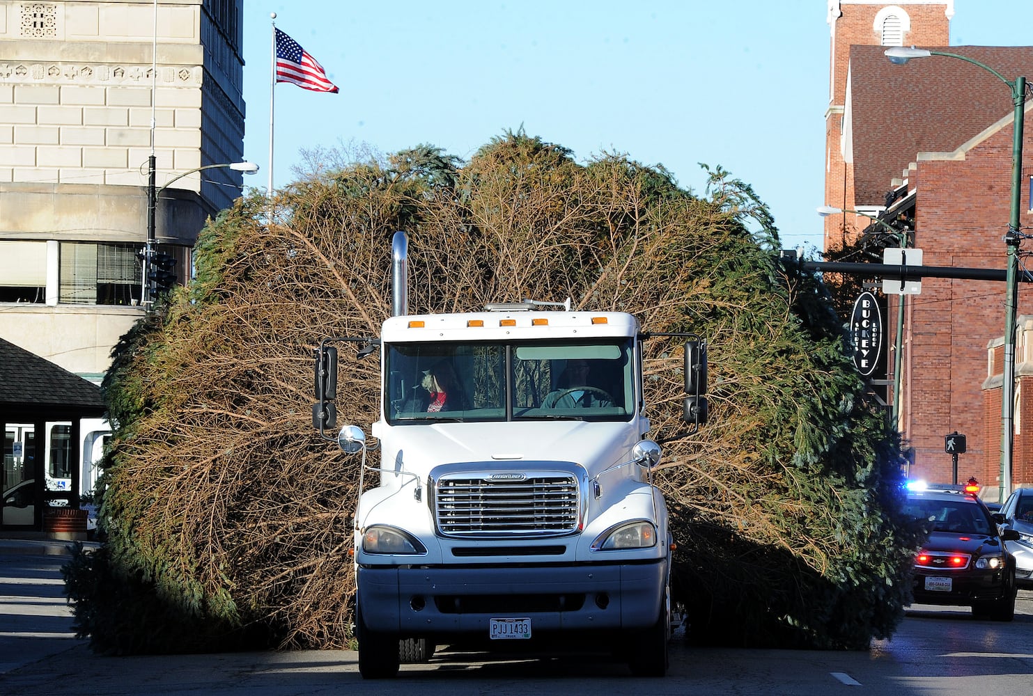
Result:
[[[138,305],[138,244],[61,243],[58,300],[68,305]]]

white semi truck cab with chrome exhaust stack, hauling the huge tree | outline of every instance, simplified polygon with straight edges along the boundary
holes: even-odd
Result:
[[[630,314],[571,311],[569,300],[408,315],[401,232],[393,292],[379,339],[332,337],[316,351],[313,424],[325,439],[336,428],[332,344],[380,353],[376,444],[355,425],[337,438],[379,475],[368,491],[362,476],[354,516],[363,676],[393,676],[442,644],[599,641],[634,673],[663,675],[674,544],[652,484],[660,446],[647,439],[651,337]],[[662,336],[685,339],[684,418],[698,428],[706,343]],[[366,452],[376,447],[373,468]]]

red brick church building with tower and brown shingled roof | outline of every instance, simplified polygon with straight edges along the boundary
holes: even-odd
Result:
[[[887,46],[917,45],[966,56],[1007,80],[1033,73],[1030,46],[950,46],[952,15],[950,0],[829,0],[825,204],[906,229],[909,246],[922,250],[925,265],[1003,270],[1014,132],[1010,89],[963,60],[930,57],[894,65],[883,55]],[[1031,130],[1024,138],[1028,157],[1033,157]],[[1033,225],[1030,207],[1026,190],[1024,228]],[[831,216],[825,249],[881,231],[881,225],[851,213]],[[1020,313],[1033,312],[1025,289]],[[968,439],[959,476],[975,475],[991,500],[1000,474],[1004,295],[1001,282],[927,278],[921,293],[905,299],[901,337],[898,428],[913,455],[912,473],[949,481],[952,462],[944,436],[957,431]],[[884,316],[897,316],[898,297],[885,298]],[[886,323],[891,352],[896,322]],[[1021,355],[1016,351],[1020,380],[1026,374]],[[886,360],[887,380],[895,377],[895,357]],[[1028,464],[1033,438],[1023,440],[1024,433],[1033,433],[1033,419],[1021,420],[1033,415],[1033,400],[1019,410],[1026,391],[1033,392],[1033,383],[1026,390],[1016,387],[1013,484],[1033,482]]]

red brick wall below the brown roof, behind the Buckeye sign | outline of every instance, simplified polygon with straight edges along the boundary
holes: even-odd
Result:
[[[1006,92],[1001,100],[1003,116],[1008,110]],[[1002,238],[1010,217],[1011,149],[1009,124],[973,147],[964,160],[917,162],[921,183],[916,189],[915,246],[922,249],[925,265],[1005,267]],[[1033,152],[1029,129],[1024,151]],[[1033,225],[1025,187],[1021,210],[1022,226]],[[927,278],[921,294],[909,299],[904,436],[914,448],[914,469],[929,480],[948,480],[951,462],[943,451],[943,436],[957,430],[968,439],[959,476],[978,469],[984,472],[980,481],[997,482],[1000,388],[983,393],[981,385],[987,379],[988,343],[1004,335],[1004,292],[1001,282]],[[1019,314],[1029,313],[1033,313],[1033,293],[1023,286]],[[998,374],[1000,363],[997,357]],[[1033,383],[1030,386],[1033,391]],[[1033,421],[1024,434],[1031,426]],[[1023,462],[1033,461],[1030,447],[1033,441],[1023,447],[1016,443],[1016,468],[1021,454]]]

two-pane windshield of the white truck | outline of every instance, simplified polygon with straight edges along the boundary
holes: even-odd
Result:
[[[392,423],[627,420],[635,409],[631,339],[399,343],[384,354]]]

